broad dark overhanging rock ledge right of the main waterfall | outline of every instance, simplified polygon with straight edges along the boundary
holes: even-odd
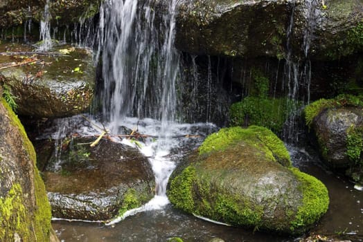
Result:
[[[282,58],[288,45],[294,55],[304,56],[307,47],[316,58],[335,59],[362,50],[362,20],[363,3],[357,0],[326,1],[326,6],[321,1],[188,0],[177,15],[176,46],[193,55]]]

